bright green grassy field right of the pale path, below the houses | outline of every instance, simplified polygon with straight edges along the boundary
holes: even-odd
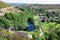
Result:
[[[43,32],[48,32],[51,30],[55,30],[55,28],[59,28],[60,24],[57,24],[55,22],[50,22],[50,23],[42,23],[42,30]]]

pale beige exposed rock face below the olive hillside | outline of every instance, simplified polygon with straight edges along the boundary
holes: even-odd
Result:
[[[2,8],[0,9],[0,16],[4,16],[5,13],[16,13],[16,12],[21,12],[21,10],[18,10],[17,8],[15,7],[6,7],[6,8]]]

